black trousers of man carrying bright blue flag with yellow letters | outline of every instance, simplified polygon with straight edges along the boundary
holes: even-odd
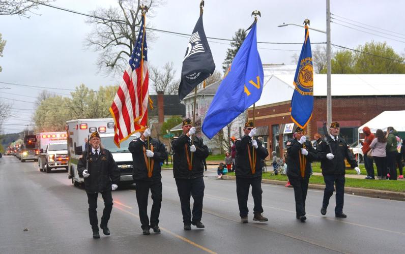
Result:
[[[249,209],[247,208],[247,199],[249,197],[249,188],[252,185],[253,196],[253,213],[262,213],[262,177],[255,178],[236,178],[236,195],[238,197],[239,215],[241,217],[247,216]]]

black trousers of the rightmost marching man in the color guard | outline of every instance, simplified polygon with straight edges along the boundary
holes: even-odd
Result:
[[[329,199],[332,197],[334,191],[334,184],[336,185],[336,207],[335,207],[335,214],[340,214],[343,212],[343,195],[344,195],[344,182],[346,179],[344,176],[340,175],[325,175],[325,191],[324,191],[324,201],[322,206],[327,208],[329,205]]]

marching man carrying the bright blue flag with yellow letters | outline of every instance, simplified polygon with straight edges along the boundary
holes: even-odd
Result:
[[[248,223],[247,199],[249,197],[249,188],[252,185],[252,196],[254,201],[253,220],[267,221],[262,215],[262,165],[261,161],[269,155],[269,152],[262,146],[262,142],[252,137],[256,134],[253,128],[253,122],[245,123],[243,129],[245,135],[235,143],[235,175],[236,175],[236,194],[238,197],[239,215],[242,223]]]

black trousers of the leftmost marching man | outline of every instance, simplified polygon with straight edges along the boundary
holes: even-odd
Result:
[[[106,190],[101,192],[101,196],[104,200],[104,210],[103,216],[101,217],[100,227],[107,226],[108,220],[110,219],[110,214],[112,210],[112,196],[111,190]],[[87,193],[87,200],[89,203],[89,218],[90,225],[92,225],[93,230],[98,230],[98,219],[97,219],[97,197],[98,193]]]

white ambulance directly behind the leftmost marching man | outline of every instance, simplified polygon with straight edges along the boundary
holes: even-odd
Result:
[[[128,150],[128,145],[133,139],[139,137],[139,134],[132,135],[122,142],[119,148],[113,141],[114,120],[112,118],[70,120],[66,122],[66,125],[69,156],[68,178],[72,179],[74,186],[84,182],[83,178],[79,177],[77,163],[85,150],[85,139],[88,139],[90,134],[95,131],[100,134],[102,147],[112,153],[114,161],[120,169],[120,183],[134,183],[132,179],[132,154]]]

